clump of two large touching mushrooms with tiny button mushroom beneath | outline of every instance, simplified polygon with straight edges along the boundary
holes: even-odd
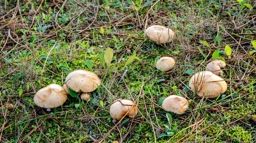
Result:
[[[35,94],[34,102],[39,107],[55,108],[64,104],[68,97],[68,88],[75,92],[83,92],[82,100],[88,100],[92,92],[100,86],[101,81],[95,73],[86,70],[72,71],[65,79],[66,84],[62,87],[57,84],[50,84],[40,89]]]

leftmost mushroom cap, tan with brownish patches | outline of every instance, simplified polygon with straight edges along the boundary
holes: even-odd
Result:
[[[39,107],[55,108],[64,104],[68,96],[60,85],[54,83],[40,89],[34,97],[34,102]]]

